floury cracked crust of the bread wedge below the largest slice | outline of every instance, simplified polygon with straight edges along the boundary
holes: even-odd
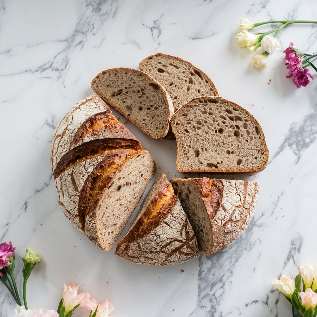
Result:
[[[200,212],[208,213],[212,228],[211,245],[207,248],[200,246],[201,250],[207,249],[204,252],[206,255],[229,246],[242,234],[253,217],[259,196],[257,182],[210,178],[174,178],[170,181],[172,184],[191,182],[199,190],[205,206],[205,210]]]

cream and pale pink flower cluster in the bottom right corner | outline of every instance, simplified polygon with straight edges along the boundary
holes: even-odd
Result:
[[[317,315],[317,266],[301,266],[301,273],[295,277],[282,275],[279,280],[272,283],[292,304],[293,317],[294,309],[301,317],[316,317]],[[301,291],[302,281],[302,291]]]

